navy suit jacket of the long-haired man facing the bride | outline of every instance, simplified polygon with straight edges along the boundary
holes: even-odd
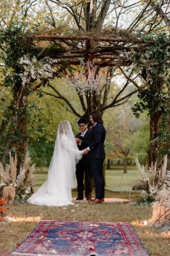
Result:
[[[92,128],[90,133],[89,148],[90,152],[88,154],[89,159],[100,158],[105,159],[104,151],[104,141],[106,137],[106,130],[101,122],[96,123]]]

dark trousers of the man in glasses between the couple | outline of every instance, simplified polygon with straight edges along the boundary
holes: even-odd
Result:
[[[87,199],[92,198],[93,178],[90,163],[79,161],[76,164],[77,192],[78,198],[83,199],[84,179],[85,179],[85,196]]]

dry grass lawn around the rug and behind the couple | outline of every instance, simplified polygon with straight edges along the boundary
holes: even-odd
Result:
[[[36,172],[34,185],[38,188],[47,178],[47,168],[43,172]],[[139,192],[128,192],[132,185],[132,180],[137,179],[135,167],[129,167],[128,174],[124,175],[121,182],[123,171],[121,167],[106,171],[105,197],[119,197],[136,201]],[[121,185],[119,186],[121,182]],[[118,189],[126,191],[116,191]],[[77,195],[76,189],[73,190],[73,197]],[[93,194],[94,196],[94,194]],[[163,233],[161,230],[144,225],[144,221],[151,218],[152,208],[148,206],[130,205],[129,203],[78,203],[68,207],[38,207],[26,203],[15,203],[8,209],[9,220],[0,225],[0,251],[11,251],[17,243],[21,243],[38,224],[40,220],[79,220],[79,221],[113,221],[131,222],[135,228],[142,244],[150,255],[164,256],[169,255],[170,233]],[[1,224],[1,223],[0,223]],[[10,237],[10,238],[9,238]]]

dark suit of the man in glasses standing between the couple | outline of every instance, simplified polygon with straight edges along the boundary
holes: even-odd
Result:
[[[81,133],[77,134],[77,136],[81,136]],[[79,150],[84,150],[86,147],[88,147],[89,138],[90,131],[87,130],[83,137],[81,145],[78,145]],[[87,199],[91,199],[93,191],[93,177],[91,172],[90,160],[87,158],[87,155],[83,155],[83,158],[76,164],[76,178],[78,198],[83,199],[85,179],[85,196]]]

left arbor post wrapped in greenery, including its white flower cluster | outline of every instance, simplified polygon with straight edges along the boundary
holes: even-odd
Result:
[[[34,104],[28,106],[28,96],[41,85],[46,84],[47,80],[52,79],[53,73],[55,76],[58,74],[58,66],[52,68],[51,59],[38,60],[32,56],[33,41],[26,37],[25,34],[28,33],[28,26],[25,23],[10,24],[0,30],[0,58],[3,63],[1,88],[10,88],[12,95],[11,105],[7,108],[8,131],[1,161],[5,162],[9,149],[15,151],[18,159],[17,171],[25,158],[29,121],[32,109],[36,107]],[[40,129],[39,124],[37,129]]]

